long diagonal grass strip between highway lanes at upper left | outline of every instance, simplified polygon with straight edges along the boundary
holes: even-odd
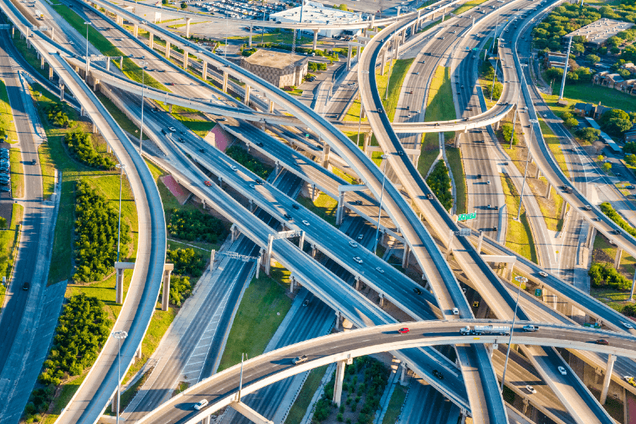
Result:
[[[57,6],[51,6],[59,16],[64,18],[66,22],[68,22],[82,37],[86,38],[86,25],[84,25],[84,19],[81,18],[77,13],[72,11],[69,6],[64,4],[58,4]],[[122,71],[128,78],[138,83],[142,81],[142,73],[143,73],[143,83],[147,86],[151,86],[153,88],[158,88],[159,90],[169,91],[163,84],[159,81],[155,80],[148,73],[143,71],[134,61],[132,61],[129,57],[124,55],[117,47],[114,47],[110,41],[107,40],[98,30],[94,28],[93,25],[88,25],[88,40],[90,40],[90,44],[95,46],[104,56],[116,57],[116,56],[124,56],[124,68]],[[119,67],[119,61],[114,60],[113,64]],[[38,66],[39,67],[39,66]]]

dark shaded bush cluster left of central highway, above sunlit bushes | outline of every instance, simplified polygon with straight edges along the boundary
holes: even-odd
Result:
[[[216,243],[225,236],[225,226],[218,218],[201,211],[172,209],[167,230],[173,237],[189,242]]]

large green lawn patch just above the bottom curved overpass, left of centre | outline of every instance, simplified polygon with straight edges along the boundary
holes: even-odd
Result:
[[[286,269],[272,266],[271,278],[264,273],[252,278],[236,312],[218,372],[240,363],[241,353],[254,358],[265,351],[291,307],[291,300],[285,295],[289,275]]]

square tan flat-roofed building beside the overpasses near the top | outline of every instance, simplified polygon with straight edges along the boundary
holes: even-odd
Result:
[[[300,86],[307,74],[309,58],[300,54],[274,52],[259,49],[250,57],[241,58],[241,67],[263,78],[274,86],[283,88]]]

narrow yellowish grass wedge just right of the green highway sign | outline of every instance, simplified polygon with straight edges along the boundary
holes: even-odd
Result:
[[[536,248],[532,240],[530,224],[526,216],[526,208],[522,207],[520,221],[517,218],[517,208],[519,208],[519,193],[514,187],[510,177],[501,176],[501,184],[506,196],[507,232],[505,245],[522,257],[537,263]]]

